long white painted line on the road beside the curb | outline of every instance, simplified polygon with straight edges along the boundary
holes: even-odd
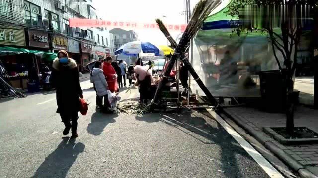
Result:
[[[258,151],[256,151],[243,137],[241,137],[227,122],[216,112],[208,111],[221,126],[232,135],[242,148],[263,168],[271,178],[284,178]]]

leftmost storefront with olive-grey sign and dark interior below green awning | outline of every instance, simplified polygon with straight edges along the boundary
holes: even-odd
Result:
[[[5,48],[4,46],[12,46],[12,48]],[[8,72],[8,80],[13,88],[26,89],[29,71],[34,66],[31,55],[14,51],[14,49],[19,50],[19,48],[22,48],[22,51],[25,46],[23,28],[0,25],[0,47],[5,48],[7,51],[1,51],[0,60]],[[29,60],[30,58],[31,60]]]

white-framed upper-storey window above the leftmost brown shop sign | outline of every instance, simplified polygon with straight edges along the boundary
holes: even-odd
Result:
[[[24,21],[27,25],[42,26],[41,8],[28,1],[23,1]]]

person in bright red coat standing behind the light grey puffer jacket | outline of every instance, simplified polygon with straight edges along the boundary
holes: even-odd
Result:
[[[112,61],[113,59],[110,56],[107,56],[103,65],[104,75],[106,77],[106,81],[107,81],[110,92],[114,92],[118,90],[118,83],[117,83],[118,76],[116,74],[115,69],[111,65]]]

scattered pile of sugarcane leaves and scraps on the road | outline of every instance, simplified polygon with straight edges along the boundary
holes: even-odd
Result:
[[[117,111],[123,112],[127,115],[137,114],[140,116],[144,113],[149,112],[149,106],[148,105],[141,106],[138,101],[126,100],[126,101],[119,102],[117,104]]]

